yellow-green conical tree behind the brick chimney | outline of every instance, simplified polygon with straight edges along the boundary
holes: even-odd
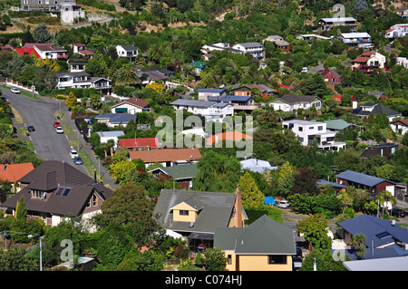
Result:
[[[257,188],[257,184],[248,170],[239,178],[238,189],[241,191],[242,206],[258,207],[263,204],[265,196]]]

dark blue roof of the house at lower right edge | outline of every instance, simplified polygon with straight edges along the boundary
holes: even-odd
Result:
[[[364,234],[365,245],[369,248],[393,244],[398,240],[408,244],[408,231],[398,225],[392,225],[390,220],[360,215],[337,223],[352,235]],[[379,234],[383,234],[379,236]],[[373,246],[374,245],[374,246]],[[408,254],[406,252],[405,254]]]

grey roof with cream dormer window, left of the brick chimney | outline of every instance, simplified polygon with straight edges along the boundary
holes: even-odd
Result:
[[[182,202],[199,204],[199,215],[190,227],[189,222],[172,220],[175,207]],[[237,195],[234,193],[199,192],[180,189],[162,189],[154,213],[159,214],[162,226],[176,232],[199,232],[213,234],[218,227],[227,227]],[[244,211],[245,212],[245,211]]]

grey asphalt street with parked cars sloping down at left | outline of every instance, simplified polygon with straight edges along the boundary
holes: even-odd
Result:
[[[64,102],[59,103],[59,101],[53,101],[39,95],[36,96],[44,101],[36,101],[24,96],[23,94],[15,94],[4,88],[0,89],[3,92],[3,96],[10,101],[11,106],[19,111],[24,119],[24,124],[17,124],[14,120],[14,126],[16,128],[19,126],[34,126],[35,131],[32,131],[29,137],[24,136],[21,138],[25,140],[29,138],[32,140],[34,150],[39,158],[44,160],[61,160],[73,164],[73,159],[71,159],[69,155],[71,144],[68,139],[78,139],[79,135],[80,149],[87,152],[88,156],[95,165],[95,168],[101,169],[101,175],[104,177],[104,183],[110,184],[113,188],[117,188],[117,185],[114,184],[107,171],[102,166],[98,166],[98,160],[94,158],[92,149],[86,145],[82,135],[77,133],[78,130],[75,127],[73,120],[70,119],[70,113]],[[67,116],[66,120],[60,120],[60,123],[62,125],[69,124],[73,129],[74,135],[67,136],[65,133],[57,134],[53,129],[53,121],[57,120],[55,117],[55,112],[59,111],[60,107],[63,114]],[[73,149],[78,148],[75,147]],[[84,173],[91,175],[83,165],[73,166],[76,169],[81,169]],[[93,178],[93,176],[91,177]]]

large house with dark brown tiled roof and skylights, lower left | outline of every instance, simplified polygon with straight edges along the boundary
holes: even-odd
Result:
[[[66,217],[81,217],[89,225],[87,220],[101,212],[102,203],[112,196],[112,190],[96,178],[64,161],[44,160],[19,182],[22,189],[0,206],[15,216],[17,203],[24,197],[27,218],[41,218],[48,226],[57,226]]]

